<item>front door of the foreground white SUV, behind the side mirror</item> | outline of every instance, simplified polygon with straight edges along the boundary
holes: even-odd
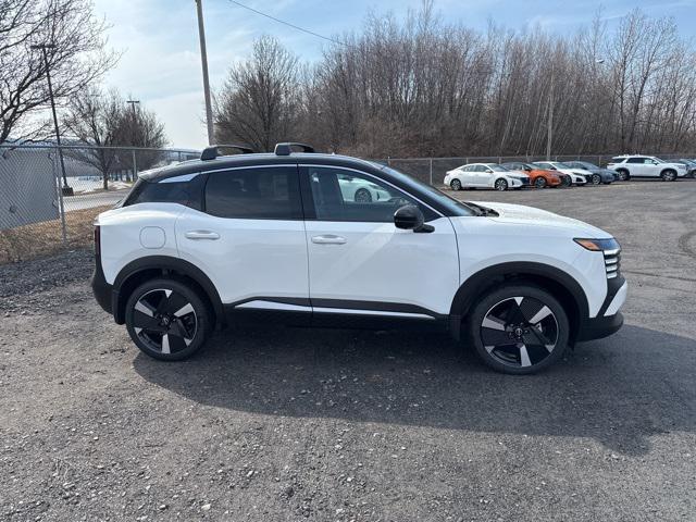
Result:
[[[338,178],[346,174],[389,198],[344,198]],[[315,319],[349,313],[427,320],[449,313],[459,257],[448,217],[368,172],[308,164],[300,165],[300,175]],[[422,209],[433,232],[395,226],[394,212],[408,203]]]

